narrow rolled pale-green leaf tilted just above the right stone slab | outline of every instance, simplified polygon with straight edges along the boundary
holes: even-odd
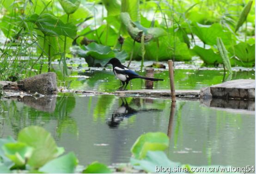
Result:
[[[227,54],[227,50],[226,50],[225,45],[222,42],[221,38],[219,38],[219,37],[217,38],[217,47],[219,50],[219,54],[222,58],[223,65],[227,68],[229,73],[232,74],[232,68],[231,68],[230,60],[229,60],[229,57]]]

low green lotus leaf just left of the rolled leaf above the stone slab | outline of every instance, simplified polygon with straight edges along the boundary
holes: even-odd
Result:
[[[212,48],[205,49],[195,46],[192,51],[198,55],[206,64],[222,63],[219,54],[215,53]]]

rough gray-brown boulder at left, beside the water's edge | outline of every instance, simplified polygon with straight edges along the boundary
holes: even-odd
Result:
[[[30,94],[35,92],[43,95],[52,95],[57,92],[57,82],[55,72],[39,74],[31,78],[18,81],[21,90],[28,91]]]

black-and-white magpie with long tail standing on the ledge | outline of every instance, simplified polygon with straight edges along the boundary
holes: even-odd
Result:
[[[129,81],[134,78],[142,78],[142,79],[150,80],[150,81],[159,81],[159,80],[163,81],[164,80],[164,79],[159,79],[159,78],[147,78],[147,77],[140,76],[136,72],[130,70],[128,67],[122,65],[121,62],[116,58],[110,59],[108,61],[108,63],[106,63],[106,65],[108,65],[108,64],[111,64],[113,66],[113,72],[114,72],[115,76],[122,82],[122,86],[120,89],[122,89],[123,86],[126,84],[126,86],[124,87],[123,90],[125,90]]]

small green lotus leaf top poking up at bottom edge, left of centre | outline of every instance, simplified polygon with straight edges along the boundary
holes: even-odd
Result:
[[[110,174],[111,170],[105,164],[99,162],[92,162],[85,168],[83,174]]]

